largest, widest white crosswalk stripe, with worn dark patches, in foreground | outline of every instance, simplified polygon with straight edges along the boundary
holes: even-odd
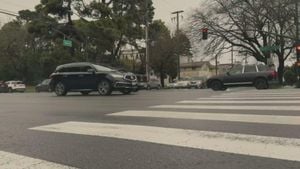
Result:
[[[31,129],[300,161],[300,139],[292,138],[86,122],[65,122]]]

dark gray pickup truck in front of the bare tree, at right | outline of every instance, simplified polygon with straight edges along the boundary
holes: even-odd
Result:
[[[215,91],[233,86],[254,86],[268,89],[270,84],[278,83],[277,72],[265,65],[235,65],[225,74],[207,80],[208,88]]]

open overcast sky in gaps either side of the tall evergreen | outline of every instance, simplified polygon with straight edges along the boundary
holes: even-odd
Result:
[[[155,7],[155,19],[162,19],[171,28],[176,27],[175,22],[171,22],[171,18],[175,15],[171,13],[176,10],[184,10],[184,21],[187,18],[187,14],[199,6],[201,0],[153,0]],[[0,9],[8,10],[12,12],[18,12],[22,9],[34,9],[34,6],[38,4],[40,0],[0,0]],[[8,22],[12,17],[0,14],[1,23]]]

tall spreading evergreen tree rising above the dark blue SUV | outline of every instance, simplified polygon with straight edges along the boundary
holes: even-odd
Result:
[[[54,39],[68,37],[74,41],[73,56],[84,50],[91,61],[116,64],[122,46],[130,44],[138,48],[137,41],[144,37],[146,10],[149,22],[154,15],[152,1],[147,1],[146,7],[146,0],[41,0],[34,12],[20,14],[30,22],[32,32],[43,33],[45,25],[51,24],[57,30]],[[80,19],[73,20],[74,14]],[[62,22],[65,24],[58,24]]]

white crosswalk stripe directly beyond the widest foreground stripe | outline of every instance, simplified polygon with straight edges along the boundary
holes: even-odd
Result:
[[[155,117],[174,118],[188,120],[214,120],[246,123],[285,124],[300,125],[300,116],[274,116],[274,115],[252,115],[252,114],[225,114],[225,113],[191,113],[174,111],[123,111],[108,114],[109,116],[129,117]]]

